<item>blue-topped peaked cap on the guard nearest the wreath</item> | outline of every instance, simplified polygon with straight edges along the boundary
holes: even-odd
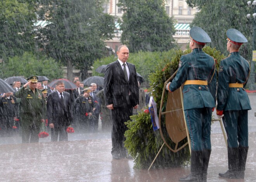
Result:
[[[211,42],[211,38],[208,34],[200,27],[192,27],[189,31],[191,39],[197,43],[204,45]]]

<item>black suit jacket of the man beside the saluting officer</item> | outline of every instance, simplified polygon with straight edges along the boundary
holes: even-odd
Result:
[[[70,95],[67,92],[62,92],[64,96],[64,104],[61,103],[61,98],[57,91],[52,92],[47,98],[47,116],[48,123],[53,123],[59,126],[69,126],[73,121],[72,107]],[[63,112],[64,111],[64,112]]]

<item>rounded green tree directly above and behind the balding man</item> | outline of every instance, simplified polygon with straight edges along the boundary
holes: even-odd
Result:
[[[131,52],[167,51],[175,46],[173,19],[163,6],[163,0],[119,0],[125,12],[121,24],[121,43]]]

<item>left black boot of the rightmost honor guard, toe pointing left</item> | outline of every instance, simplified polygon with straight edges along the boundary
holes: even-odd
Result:
[[[228,171],[225,173],[219,173],[220,177],[237,179],[237,172],[239,166],[238,153],[238,147],[228,147]]]

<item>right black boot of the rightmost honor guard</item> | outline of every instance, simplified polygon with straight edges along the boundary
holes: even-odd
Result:
[[[237,179],[244,179],[248,149],[248,146],[239,146],[239,168],[237,173]]]

